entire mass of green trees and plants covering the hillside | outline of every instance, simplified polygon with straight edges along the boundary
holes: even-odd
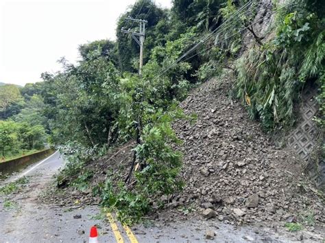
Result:
[[[176,149],[182,141],[172,124],[195,122],[196,114],[184,114],[178,104],[202,82],[221,79],[225,70],[233,79],[227,91],[265,132],[295,124],[295,104],[309,83],[320,89],[317,121],[324,128],[324,9],[320,0],[173,0],[171,10],[136,1],[118,19],[116,41],[80,45],[78,65],[60,59],[62,71],[43,73],[44,82],[21,89],[25,106],[19,106],[21,94],[15,91],[17,99],[1,110],[3,118],[12,118],[1,124],[37,120],[32,128],[43,126],[69,158],[58,187],[87,189],[93,173],[86,165],[134,141],[128,173],[114,180],[107,176],[95,189],[103,206],[134,222],[156,196],[184,187],[178,176],[182,153]],[[142,76],[138,45],[120,32],[138,28],[127,16],[148,21]],[[267,30],[256,30],[256,23]]]

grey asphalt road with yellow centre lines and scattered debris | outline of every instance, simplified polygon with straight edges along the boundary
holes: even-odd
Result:
[[[272,229],[234,229],[218,220],[153,221],[151,225],[123,227],[112,216],[101,216],[97,206],[59,207],[42,205],[38,196],[47,189],[53,175],[64,164],[58,152],[11,176],[1,185],[27,176],[29,182],[16,194],[0,195],[0,242],[88,242],[93,225],[99,228],[99,242],[289,242],[288,235]],[[8,207],[10,202],[10,207]],[[97,218],[97,219],[96,219]],[[206,240],[206,230],[215,231]],[[299,235],[298,235],[299,236]],[[293,237],[296,237],[293,235]],[[297,240],[297,238],[291,238]]]

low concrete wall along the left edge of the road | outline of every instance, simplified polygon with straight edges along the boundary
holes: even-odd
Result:
[[[12,172],[16,172],[18,170],[24,169],[28,165],[32,165],[32,163],[36,163],[45,159],[49,155],[53,154],[53,149],[43,150],[40,152],[36,152],[34,154],[29,154],[24,157],[20,157],[18,159],[12,159],[11,161],[5,161],[0,163],[0,173],[8,174]]]

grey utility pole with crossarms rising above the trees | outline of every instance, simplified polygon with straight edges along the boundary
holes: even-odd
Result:
[[[131,34],[132,38],[138,43],[140,46],[140,62],[139,62],[139,75],[141,75],[141,69],[143,66],[143,43],[145,42],[145,23],[148,23],[148,21],[145,21],[143,19],[132,19],[131,17],[125,18],[129,21],[134,21],[139,23],[140,31],[139,32],[133,32],[132,30],[124,30],[124,28],[121,28],[122,33]],[[139,39],[136,37],[139,36]]]

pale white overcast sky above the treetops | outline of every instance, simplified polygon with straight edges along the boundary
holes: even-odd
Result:
[[[115,40],[117,19],[136,0],[0,0],[0,82],[39,82],[79,59],[88,41]],[[156,0],[170,8],[171,0]]]

